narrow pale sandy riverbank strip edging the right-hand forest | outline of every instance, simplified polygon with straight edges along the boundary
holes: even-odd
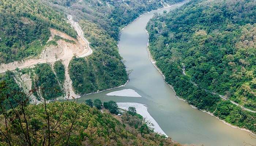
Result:
[[[145,31],[146,31],[146,33],[147,33],[147,37],[149,37],[148,31],[147,31],[146,29],[145,29]],[[161,71],[161,70],[158,68],[158,66],[155,64],[156,61],[153,59],[153,57],[152,57],[152,55],[151,55],[151,53],[150,53],[150,50],[148,49],[148,46],[149,46],[149,39],[148,39],[148,43],[147,43],[147,47],[146,47],[147,53],[148,53],[148,58],[150,59],[150,62],[153,64],[153,66],[154,66],[154,67],[158,70],[158,72],[162,75],[163,80],[165,81],[165,75],[162,73],[162,71]],[[165,83],[166,83],[167,85],[169,85],[166,81],[165,81]],[[169,85],[169,87],[173,90],[174,95],[177,97],[178,100],[182,100],[182,101],[184,101],[185,103],[188,103],[187,100],[182,99],[182,98],[180,98],[180,97],[177,96],[177,94],[176,94],[176,92],[175,92],[175,90],[174,90],[174,88],[173,88],[172,85]],[[189,103],[188,103],[188,104],[189,104]],[[194,109],[200,110],[200,109],[198,109],[197,107],[195,107],[194,105],[191,105],[191,104],[189,104],[189,105],[190,105],[192,108],[194,108]],[[232,127],[232,128],[238,128],[238,129],[240,129],[240,130],[247,131],[247,132],[250,132],[250,133],[253,134],[253,135],[256,135],[256,134],[253,133],[251,130],[248,130],[248,129],[246,129],[246,128],[241,128],[241,127],[238,127],[238,126],[234,126],[234,125],[232,125],[232,124],[230,124],[230,123],[227,123],[225,120],[219,119],[217,116],[214,116],[214,113],[211,113],[211,112],[208,112],[208,111],[205,111],[205,110],[200,110],[200,111],[205,112],[205,113],[207,113],[207,114],[209,114],[209,115],[211,115],[211,116],[217,118],[219,121],[222,121],[224,124],[227,124],[228,126],[230,126],[230,127]]]

